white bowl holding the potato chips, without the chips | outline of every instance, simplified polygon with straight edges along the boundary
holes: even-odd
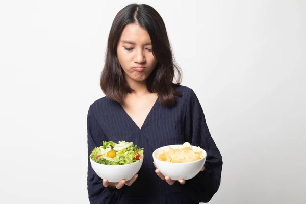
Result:
[[[204,163],[206,161],[206,151],[201,148],[203,151],[203,158],[197,161],[193,162],[184,162],[184,163],[171,163],[171,162],[164,162],[159,159],[157,159],[157,156],[163,151],[168,151],[169,146],[173,149],[178,149],[182,146],[182,144],[176,144],[176,145],[168,145],[163,146],[158,149],[156,149],[153,152],[153,160],[157,167],[157,169],[164,175],[169,176],[172,180],[188,180],[192,179],[196,174],[198,174],[201,170],[201,168],[204,166]],[[191,146],[192,150],[194,151],[197,147]]]

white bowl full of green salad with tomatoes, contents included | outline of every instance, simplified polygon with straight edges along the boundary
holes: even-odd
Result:
[[[90,157],[93,170],[109,182],[128,181],[139,171],[143,162],[143,148],[133,142],[104,141],[95,147]]]

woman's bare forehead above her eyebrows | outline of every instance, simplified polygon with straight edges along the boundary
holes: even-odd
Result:
[[[127,24],[121,34],[120,41],[131,41],[136,44],[150,42],[149,33],[138,24]]]

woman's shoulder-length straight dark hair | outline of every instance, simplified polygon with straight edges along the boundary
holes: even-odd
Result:
[[[127,84],[123,70],[117,57],[117,43],[125,25],[137,23],[144,28],[151,39],[152,52],[158,61],[155,69],[146,79],[150,93],[157,93],[163,106],[171,107],[176,104],[175,97],[181,97],[174,86],[181,83],[181,69],[175,63],[168,39],[165,23],[160,14],[146,4],[130,4],[116,15],[107,43],[105,66],[101,74],[100,86],[106,97],[121,103],[127,93],[134,90]],[[175,70],[177,75],[174,76]],[[173,83],[173,78],[176,83]]]

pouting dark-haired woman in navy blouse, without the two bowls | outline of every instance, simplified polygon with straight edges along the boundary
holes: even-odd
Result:
[[[199,203],[216,193],[222,157],[196,94],[180,78],[159,13],[145,4],[123,8],[111,27],[101,74],[106,97],[88,111],[88,155],[103,141],[125,140],[144,148],[144,161],[130,181],[119,183],[100,179],[88,161],[90,203]],[[184,142],[205,149],[207,160],[193,179],[173,181],[155,168],[152,151]]]

